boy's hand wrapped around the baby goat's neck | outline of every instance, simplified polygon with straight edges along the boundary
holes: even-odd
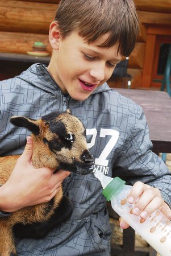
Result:
[[[53,174],[49,168],[34,168],[31,163],[32,139],[27,137],[23,154],[17,160],[7,182],[0,187],[0,210],[14,212],[26,206],[46,203],[59,191],[62,181],[70,172]]]

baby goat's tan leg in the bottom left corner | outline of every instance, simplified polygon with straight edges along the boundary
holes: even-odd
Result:
[[[0,222],[0,255],[1,256],[16,256],[14,245],[14,237],[11,226],[5,222]]]

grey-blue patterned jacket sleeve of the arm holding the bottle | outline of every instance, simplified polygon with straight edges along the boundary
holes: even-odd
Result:
[[[152,152],[149,128],[141,108],[132,134],[124,143],[115,163],[113,175],[120,176],[127,184],[133,185],[136,181],[142,181],[160,189],[162,198],[171,208],[171,172],[162,159]]]

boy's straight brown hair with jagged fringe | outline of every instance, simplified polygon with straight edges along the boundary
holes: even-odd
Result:
[[[135,47],[139,20],[133,0],[61,0],[55,20],[64,38],[78,31],[87,43],[110,32],[101,47],[119,43],[118,52],[128,56]]]

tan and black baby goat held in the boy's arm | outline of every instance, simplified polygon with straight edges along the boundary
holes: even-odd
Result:
[[[34,152],[34,167],[63,169],[78,174],[89,174],[93,170],[93,156],[87,148],[85,127],[70,110],[51,113],[38,120],[26,117],[11,117],[10,122],[31,131]],[[0,158],[0,184],[11,174],[19,155]],[[54,226],[66,220],[72,213],[72,203],[62,195],[62,187],[51,201],[33,207],[25,207],[0,218],[0,255],[17,255],[14,245],[13,226],[16,233],[40,238]],[[24,225],[26,228],[23,228]],[[28,232],[27,232],[28,226]],[[34,232],[33,232],[34,230]],[[29,233],[30,232],[30,233]]]

